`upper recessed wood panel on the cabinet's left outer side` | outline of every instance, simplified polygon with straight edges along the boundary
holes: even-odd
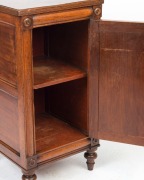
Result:
[[[16,86],[15,26],[1,20],[0,79]]]

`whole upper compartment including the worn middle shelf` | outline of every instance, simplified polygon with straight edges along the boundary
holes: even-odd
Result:
[[[33,29],[34,89],[87,76],[89,21]]]

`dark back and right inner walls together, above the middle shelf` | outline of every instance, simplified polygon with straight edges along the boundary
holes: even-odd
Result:
[[[33,29],[33,56],[66,61],[80,69],[88,67],[88,21]]]

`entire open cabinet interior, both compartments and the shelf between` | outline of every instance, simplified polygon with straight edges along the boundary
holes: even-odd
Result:
[[[33,29],[36,151],[88,135],[88,21]]]

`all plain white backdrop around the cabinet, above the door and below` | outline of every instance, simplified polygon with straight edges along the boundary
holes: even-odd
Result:
[[[144,22],[144,0],[105,0],[106,20]],[[83,153],[37,171],[38,180],[144,180],[144,147],[101,141],[95,169],[86,169]],[[0,180],[20,180],[21,170],[0,155]]]

